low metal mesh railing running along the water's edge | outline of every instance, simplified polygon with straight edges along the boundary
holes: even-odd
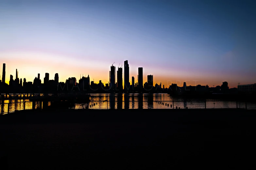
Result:
[[[182,109],[182,108],[244,108],[256,109],[254,102],[236,101],[90,101],[70,102],[15,102],[0,104],[0,113],[25,109]]]

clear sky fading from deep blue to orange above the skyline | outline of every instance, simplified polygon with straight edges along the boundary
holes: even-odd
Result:
[[[0,74],[109,81],[128,60],[154,84],[256,83],[256,1],[0,0]],[[117,68],[116,68],[117,70]],[[124,73],[124,71],[123,71]],[[2,79],[2,77],[1,77]]]

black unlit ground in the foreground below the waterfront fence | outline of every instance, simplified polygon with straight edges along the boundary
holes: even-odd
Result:
[[[1,169],[255,167],[256,111],[19,111],[0,115]]]

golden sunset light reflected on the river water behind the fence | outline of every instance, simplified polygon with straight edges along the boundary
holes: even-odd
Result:
[[[108,102],[99,102],[106,101]],[[0,112],[7,112],[10,104],[10,111],[32,109],[32,102],[29,99],[19,100],[4,100],[0,104]],[[216,99],[185,99],[182,97],[171,97],[168,94],[91,94],[91,101],[87,103],[76,103],[74,106],[67,106],[67,108],[83,109],[119,109],[119,108],[245,108],[245,102],[236,101],[221,101]],[[16,103],[22,102],[22,103]],[[35,109],[44,109],[51,106],[51,102],[35,102]],[[65,107],[65,106],[60,106]],[[247,108],[256,108],[255,103],[247,103]]]

